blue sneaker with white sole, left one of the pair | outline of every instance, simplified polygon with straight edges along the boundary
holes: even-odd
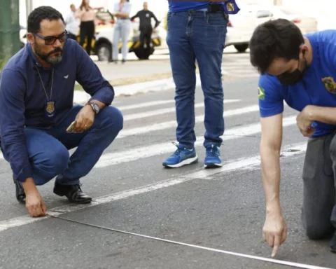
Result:
[[[183,165],[190,165],[192,163],[197,163],[198,156],[196,154],[195,148],[194,149],[186,149],[183,148],[176,143],[173,143],[177,150],[173,153],[172,156],[167,158],[162,165],[165,167],[181,167]]]

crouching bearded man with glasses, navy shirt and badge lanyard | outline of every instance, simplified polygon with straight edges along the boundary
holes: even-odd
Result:
[[[38,7],[27,25],[27,46],[0,76],[1,151],[13,170],[16,198],[30,216],[43,216],[46,207],[36,186],[54,177],[55,194],[91,202],[80,178],[123,128],[123,115],[109,106],[113,87],[83,48],[66,38],[58,11]],[[91,95],[84,106],[73,106],[75,81]],[[67,132],[75,120],[73,132]],[[69,158],[68,150],[76,147]]]

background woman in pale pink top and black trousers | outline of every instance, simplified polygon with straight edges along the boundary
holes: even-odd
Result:
[[[85,50],[88,55],[91,54],[91,45],[95,28],[94,20],[96,19],[96,13],[89,3],[89,0],[83,0],[82,4],[80,4],[80,7],[78,8],[78,11],[76,12],[76,18],[80,19],[80,46],[83,47],[86,37],[87,42]]]

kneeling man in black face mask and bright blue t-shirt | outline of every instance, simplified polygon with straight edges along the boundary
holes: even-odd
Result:
[[[287,237],[279,198],[283,100],[300,111],[297,127],[309,137],[304,159],[302,222],[311,240],[332,238],[336,252],[336,30],[302,36],[288,20],[258,26],[251,64],[260,71],[260,157],[265,188],[265,241],[273,256]]]

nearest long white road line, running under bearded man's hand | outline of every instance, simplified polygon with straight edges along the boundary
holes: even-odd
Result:
[[[300,146],[300,144],[296,145],[296,147],[302,149],[302,145]],[[293,148],[294,148],[293,146],[290,146],[290,147],[286,147],[285,150],[293,149]],[[283,153],[283,155],[284,155],[284,158],[288,158],[290,156],[295,156],[303,152],[304,151],[299,151],[299,152],[292,151],[292,152]],[[233,172],[233,171],[241,170],[241,169],[246,170],[248,169],[248,167],[250,167],[249,169],[251,169],[251,167],[255,167],[256,165],[259,165],[259,164],[260,164],[260,159],[258,158],[258,156],[252,156],[250,158],[245,158],[245,159],[237,159],[237,160],[233,160],[232,162],[225,163],[223,167],[221,167],[221,172]],[[64,205],[61,207],[55,207],[52,209],[48,209],[48,214],[59,216],[60,214],[74,212],[79,209],[83,209],[87,207],[93,207],[94,205],[102,205],[102,204],[106,204],[107,202],[113,202],[115,200],[129,198],[134,195],[141,194],[141,193],[148,193],[150,191],[155,191],[160,188],[167,188],[169,186],[181,184],[183,182],[191,181],[193,179],[202,179],[202,177],[209,177],[211,173],[209,172],[206,175],[204,175],[201,172],[203,171],[194,172],[193,175],[196,176],[194,178],[190,177],[190,174],[182,175],[181,177],[179,177],[179,179],[176,179],[176,176],[175,176],[172,179],[160,181],[155,184],[149,184],[146,186],[142,186],[140,188],[134,188],[134,189],[127,190],[127,191],[121,191],[120,193],[104,195],[102,197],[92,200],[92,203],[89,205],[71,204],[71,205]],[[214,171],[214,173],[216,172],[217,171]],[[0,232],[3,230],[7,230],[8,228],[23,226],[25,224],[34,223],[36,221],[41,221],[42,219],[47,219],[47,218],[48,216],[43,217],[43,218],[31,218],[29,216],[19,216],[18,218],[8,219],[6,221],[0,221]]]

